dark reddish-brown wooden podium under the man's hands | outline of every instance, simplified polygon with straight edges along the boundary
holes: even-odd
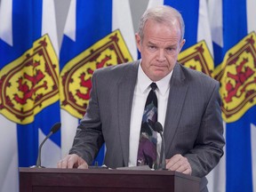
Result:
[[[198,192],[199,182],[172,171],[20,168],[20,192]]]

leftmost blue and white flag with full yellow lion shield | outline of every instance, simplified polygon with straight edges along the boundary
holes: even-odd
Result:
[[[60,122],[58,55],[52,0],[1,1],[1,191],[18,191],[18,167],[36,164],[38,144]],[[42,149],[42,165],[56,167],[59,159],[56,132]]]

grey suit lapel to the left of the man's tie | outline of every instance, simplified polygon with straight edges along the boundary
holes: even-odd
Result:
[[[128,166],[129,161],[129,136],[132,100],[134,87],[138,76],[139,63],[140,60],[132,63],[131,68],[125,71],[124,77],[118,84],[118,125],[121,138],[121,147],[124,157],[124,166]]]

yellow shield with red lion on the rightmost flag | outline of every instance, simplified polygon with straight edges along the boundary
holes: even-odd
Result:
[[[215,78],[220,81],[222,116],[226,122],[234,122],[256,104],[256,35],[245,36],[227,53]]]

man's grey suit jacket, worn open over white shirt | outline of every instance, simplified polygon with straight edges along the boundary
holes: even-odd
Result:
[[[140,60],[100,68],[92,76],[91,100],[70,154],[92,164],[106,143],[104,163],[116,168],[128,165],[133,91]],[[219,83],[179,63],[173,68],[164,123],[165,156],[188,158],[192,175],[203,178],[223,155],[223,127]]]

